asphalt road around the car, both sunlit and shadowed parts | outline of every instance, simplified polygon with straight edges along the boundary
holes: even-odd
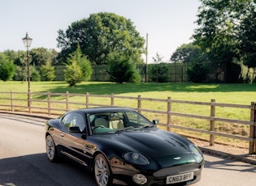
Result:
[[[93,175],[74,163],[46,158],[41,118],[0,113],[0,185],[96,185]],[[256,166],[205,155],[202,180],[194,186],[253,186]]]

